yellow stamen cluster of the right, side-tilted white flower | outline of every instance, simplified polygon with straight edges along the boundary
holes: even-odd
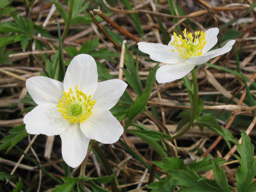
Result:
[[[200,56],[203,54],[203,49],[206,44],[205,41],[205,33],[203,31],[196,31],[195,32],[195,39],[193,42],[193,35],[192,33],[189,33],[187,35],[187,29],[184,29],[182,38],[181,35],[179,35],[179,38],[177,34],[174,32],[174,40],[171,45],[175,46],[175,49],[180,52],[181,57],[185,57],[187,59],[190,59],[191,57]],[[199,37],[200,34],[200,37]],[[172,52],[175,52],[174,49],[171,49]]]

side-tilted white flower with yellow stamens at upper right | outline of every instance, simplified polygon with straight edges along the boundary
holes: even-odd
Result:
[[[184,77],[196,65],[229,52],[235,40],[229,41],[222,48],[209,51],[217,43],[218,33],[218,28],[210,28],[201,33],[196,31],[193,41],[192,33],[187,34],[185,29],[183,31],[185,39],[173,33],[168,45],[139,42],[138,47],[140,51],[149,54],[152,60],[167,63],[156,71],[157,82],[166,83]]]

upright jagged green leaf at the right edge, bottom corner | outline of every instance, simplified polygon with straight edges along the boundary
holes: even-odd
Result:
[[[237,152],[240,157],[234,155],[240,162],[236,170],[237,192],[253,192],[256,190],[256,181],[252,182],[256,175],[256,161],[253,160],[254,147],[250,137],[242,130],[242,143],[237,144]]]

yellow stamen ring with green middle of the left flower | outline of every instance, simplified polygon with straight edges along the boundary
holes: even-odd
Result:
[[[64,119],[69,120],[69,123],[83,123],[86,118],[92,115],[93,105],[96,101],[92,101],[90,98],[92,95],[87,97],[85,93],[78,90],[76,85],[76,92],[69,88],[69,92],[63,92],[63,97],[59,101],[57,108],[62,112]]]

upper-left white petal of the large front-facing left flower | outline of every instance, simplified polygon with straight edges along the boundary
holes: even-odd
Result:
[[[26,81],[26,88],[36,104],[59,103],[63,89],[63,83],[54,79],[35,76]]]

